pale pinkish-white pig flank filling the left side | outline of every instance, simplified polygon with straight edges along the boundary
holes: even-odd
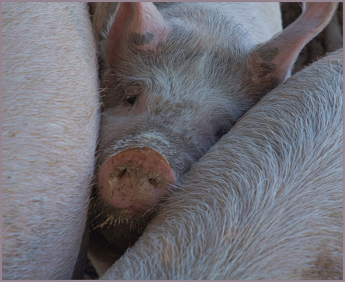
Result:
[[[71,279],[100,122],[86,3],[2,3],[2,279]]]

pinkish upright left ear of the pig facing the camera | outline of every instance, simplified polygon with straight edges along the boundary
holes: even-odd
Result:
[[[119,3],[106,43],[109,65],[130,46],[154,49],[168,32],[169,28],[152,2]]]

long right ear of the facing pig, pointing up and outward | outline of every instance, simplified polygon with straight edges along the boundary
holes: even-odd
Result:
[[[336,3],[306,3],[292,24],[249,54],[252,80],[261,90],[272,90],[291,75],[299,52],[332,19]]]

